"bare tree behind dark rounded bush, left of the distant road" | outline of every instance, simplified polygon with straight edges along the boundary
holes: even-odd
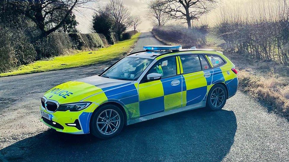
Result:
[[[123,5],[123,1],[121,0],[110,0],[106,8],[115,20],[113,31],[120,38],[121,33],[132,26],[131,12]]]

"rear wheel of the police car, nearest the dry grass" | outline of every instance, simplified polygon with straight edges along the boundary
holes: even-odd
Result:
[[[214,85],[208,93],[206,107],[216,111],[224,107],[227,101],[227,91],[222,84]]]

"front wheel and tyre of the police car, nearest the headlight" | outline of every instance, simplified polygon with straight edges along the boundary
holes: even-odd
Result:
[[[109,139],[118,135],[123,125],[124,116],[121,109],[113,104],[106,104],[92,114],[90,132],[97,138]]]

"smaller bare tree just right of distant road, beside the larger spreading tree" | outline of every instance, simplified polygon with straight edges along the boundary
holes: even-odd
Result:
[[[147,20],[149,20],[154,26],[163,26],[171,20],[169,14],[163,13],[162,9],[164,5],[159,5],[158,0],[147,1]]]

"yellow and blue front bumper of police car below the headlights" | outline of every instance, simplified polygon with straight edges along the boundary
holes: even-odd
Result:
[[[91,110],[97,107],[96,104],[92,103],[89,107],[84,110],[77,112],[68,111],[56,111],[47,112],[42,106],[40,111],[44,111],[50,114],[52,120],[47,120],[41,117],[40,121],[43,122],[48,127],[55,129],[58,132],[71,133],[71,134],[86,134],[89,133],[89,122],[92,115]],[[68,126],[67,124],[75,124],[76,126]]]

